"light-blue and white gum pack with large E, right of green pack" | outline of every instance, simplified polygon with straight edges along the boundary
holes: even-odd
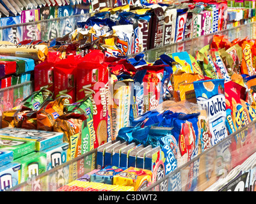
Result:
[[[54,145],[43,150],[43,152],[45,152],[47,155],[47,171],[67,162],[67,150],[68,143],[66,142]]]

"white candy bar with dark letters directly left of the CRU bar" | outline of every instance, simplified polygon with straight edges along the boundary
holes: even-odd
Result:
[[[177,10],[175,8],[164,11],[163,46],[175,42]]]

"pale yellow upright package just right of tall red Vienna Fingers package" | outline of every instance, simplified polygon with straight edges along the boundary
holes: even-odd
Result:
[[[113,84],[113,101],[111,101],[111,136],[115,140],[118,131],[129,126],[129,112],[131,101],[131,85],[133,80],[122,80]]]

